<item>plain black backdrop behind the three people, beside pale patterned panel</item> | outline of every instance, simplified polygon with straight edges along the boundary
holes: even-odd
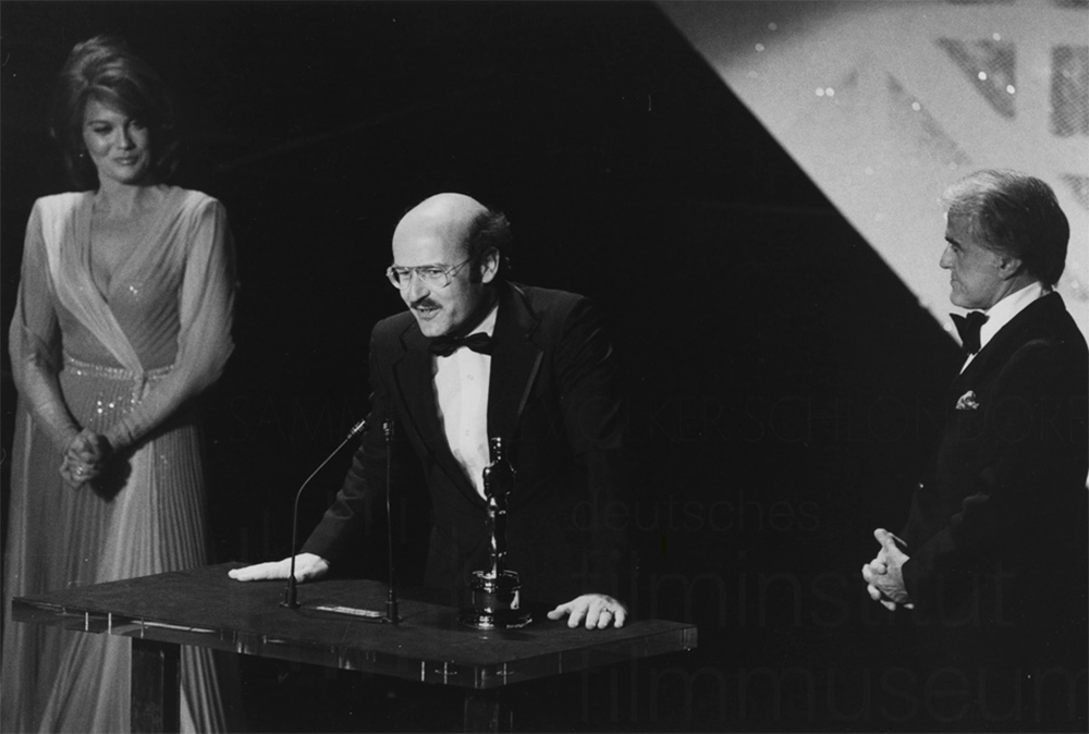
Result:
[[[242,291],[206,400],[218,560],[287,552],[295,489],[366,412],[369,330],[403,307],[382,274],[393,225],[462,191],[510,216],[515,279],[609,314],[643,484],[596,522],[638,539],[637,611],[700,627],[692,655],[584,678],[577,723],[523,721],[934,723],[923,682],[896,676],[907,632],[858,571],[906,512],[955,345],[656,7],[5,1],[0,22],[4,329],[30,205],[64,189],[45,122],[75,41],[120,33],[160,71],[184,110],[180,182],[228,207]],[[347,461],[304,500],[304,533]],[[363,725],[351,701],[292,718],[276,701],[356,684],[276,665],[244,669],[256,726]]]

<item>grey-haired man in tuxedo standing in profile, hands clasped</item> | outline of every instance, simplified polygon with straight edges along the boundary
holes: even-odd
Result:
[[[1051,188],[1014,171],[974,173],[944,201],[941,267],[950,299],[971,310],[954,317],[966,358],[907,523],[898,537],[874,531],[881,549],[862,576],[876,601],[914,610],[929,663],[1077,674],[1089,359],[1054,291],[1069,227]]]

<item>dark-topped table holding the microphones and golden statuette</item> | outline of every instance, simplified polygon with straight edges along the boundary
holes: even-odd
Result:
[[[134,732],[179,731],[179,645],[456,686],[465,692],[465,727],[494,731],[510,725],[502,706],[505,686],[697,644],[694,625],[661,620],[588,631],[538,616],[522,629],[480,632],[461,625],[458,610],[411,591],[401,594],[395,625],[313,609],[384,611],[386,585],[360,579],[301,585],[302,608],[284,609],[282,582],[228,577],[238,565],[21,597],[12,601],[12,619],[132,637]]]

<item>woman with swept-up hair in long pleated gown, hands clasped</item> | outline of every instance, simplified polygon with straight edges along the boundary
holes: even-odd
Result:
[[[232,351],[233,256],[222,205],[163,183],[171,129],[122,44],[73,49],[52,132],[91,191],[38,199],[26,229],[5,614],[12,597],[207,562],[194,399]],[[130,648],[5,620],[3,730],[129,731]],[[224,729],[216,677],[183,648],[183,729]]]

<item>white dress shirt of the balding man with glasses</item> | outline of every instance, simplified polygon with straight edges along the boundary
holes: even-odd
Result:
[[[499,304],[495,304],[472,333],[484,332],[490,337],[495,330],[498,313]],[[484,468],[490,462],[488,381],[491,378],[491,355],[463,346],[449,357],[436,355],[431,358],[439,424],[454,458],[482,498]]]

